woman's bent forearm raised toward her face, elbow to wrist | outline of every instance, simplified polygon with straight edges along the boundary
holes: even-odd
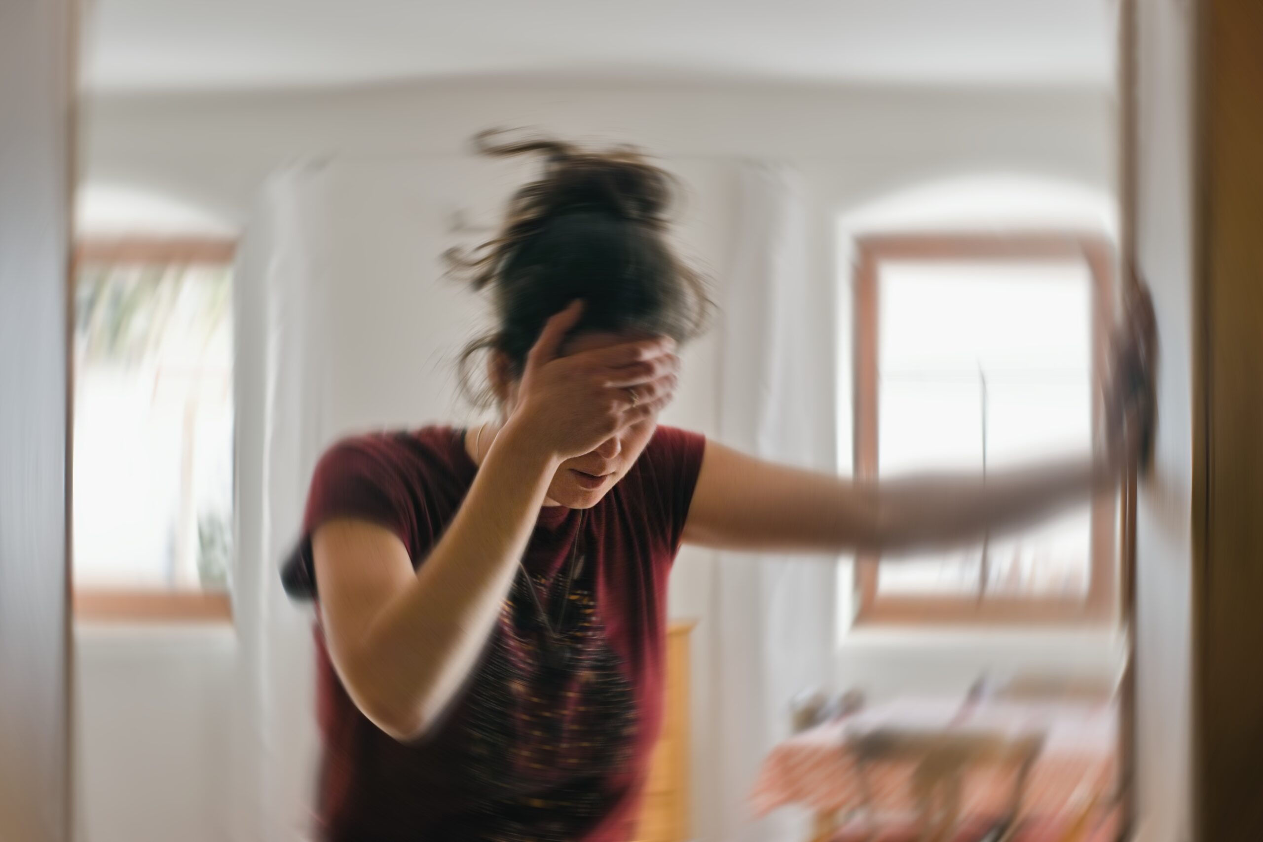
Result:
[[[357,703],[376,708],[375,718],[403,732],[395,736],[426,731],[474,668],[554,471],[552,457],[506,427],[416,581],[366,629],[352,683],[370,698]]]

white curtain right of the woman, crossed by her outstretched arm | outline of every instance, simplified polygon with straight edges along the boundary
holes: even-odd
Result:
[[[719,439],[777,462],[836,470],[836,311],[827,220],[788,168],[739,174],[722,308]],[[806,838],[805,815],[751,822],[746,798],[789,733],[789,704],[831,684],[832,559],[722,554],[714,566],[719,827],[724,842]]]

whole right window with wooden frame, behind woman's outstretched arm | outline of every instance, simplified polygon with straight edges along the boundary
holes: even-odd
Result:
[[[855,470],[983,472],[1092,447],[1109,338],[1109,246],[1082,236],[858,242]],[[856,559],[860,622],[1103,621],[1113,501],[1021,534]]]

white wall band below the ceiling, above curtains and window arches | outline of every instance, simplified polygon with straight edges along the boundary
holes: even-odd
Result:
[[[1100,91],[986,92],[755,85],[466,81],[338,92],[97,96],[91,181],[171,192],[242,221],[261,179],[308,157],[455,154],[493,126],[645,145],[661,155],[818,163],[840,208],[975,169],[1034,170],[1108,188]]]

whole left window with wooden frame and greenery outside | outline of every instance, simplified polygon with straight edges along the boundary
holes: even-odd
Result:
[[[75,261],[75,614],[229,616],[232,251],[85,242]]]

